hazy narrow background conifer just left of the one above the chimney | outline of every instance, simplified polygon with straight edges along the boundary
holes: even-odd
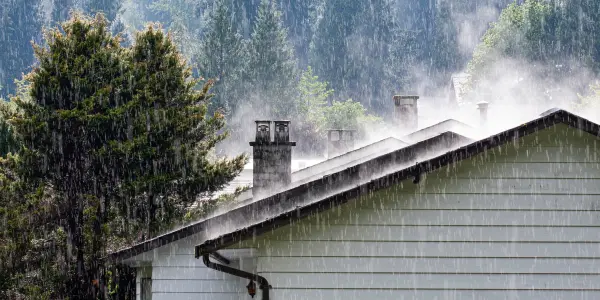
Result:
[[[231,0],[215,2],[198,59],[200,73],[217,79],[210,110],[224,109],[229,115],[235,114],[243,93],[241,72],[246,62],[245,45],[234,27],[231,6]]]

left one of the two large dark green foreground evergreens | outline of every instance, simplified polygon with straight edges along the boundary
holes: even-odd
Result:
[[[64,252],[70,276],[61,290],[71,290],[72,299],[90,299],[98,295],[92,282],[100,278],[110,184],[116,180],[99,156],[118,134],[119,123],[106,113],[123,99],[127,89],[119,87],[129,78],[125,52],[104,19],[75,16],[62,30],[47,32],[47,47],[35,48],[39,67],[28,75],[31,101],[15,100],[22,114],[13,116],[13,124],[25,146],[20,155],[27,176],[60,198],[54,224],[64,228],[72,249]]]

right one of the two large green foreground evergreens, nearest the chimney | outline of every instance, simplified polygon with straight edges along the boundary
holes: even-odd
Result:
[[[246,158],[209,158],[227,136],[221,133],[224,116],[207,114],[212,82],[195,89],[199,81],[189,80],[191,70],[160,29],[137,34],[132,56],[134,90],[139,94],[134,94],[135,105],[123,117],[131,116],[129,135],[137,138],[120,140],[107,157],[118,159],[115,165],[123,172],[118,174],[130,198],[141,196],[137,199],[142,200],[147,232],[153,236],[183,219],[199,197],[237,176]]]

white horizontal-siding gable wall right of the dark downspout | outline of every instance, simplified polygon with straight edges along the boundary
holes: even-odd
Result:
[[[597,153],[556,125],[231,248],[275,300],[600,299]]]

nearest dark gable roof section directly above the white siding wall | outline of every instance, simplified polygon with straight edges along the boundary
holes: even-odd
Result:
[[[222,222],[227,223],[228,220],[231,219],[239,219],[242,220],[240,224],[245,223],[249,225],[243,228],[237,227],[237,229],[223,232],[218,237],[211,238],[201,245],[196,246],[196,257],[217,251],[239,241],[270,232],[276,228],[289,225],[296,220],[339,206],[361,195],[390,187],[406,179],[418,176],[418,174],[432,172],[449,164],[480,154],[486,149],[506,144],[520,137],[535,133],[539,130],[559,123],[566,124],[570,127],[582,130],[594,136],[600,136],[600,126],[596,123],[564,110],[548,111],[545,113],[545,115],[521,126],[506,130],[476,142],[469,143],[466,146],[456,148],[444,154],[435,155],[433,158],[428,158],[416,164],[406,165],[405,167],[392,171],[381,170],[383,172],[380,174],[375,172],[376,176],[373,176],[375,177],[373,180],[366,180],[362,184],[350,186],[346,185],[345,188],[341,189],[336,189],[335,187],[332,188],[330,185],[331,183],[345,180],[352,181],[356,177],[361,177],[362,174],[359,172],[361,169],[371,170],[370,168],[377,168],[380,166],[389,165],[390,163],[398,164],[398,160],[400,160],[400,165],[402,164],[401,161],[411,161],[410,159],[407,160],[406,158],[417,159],[418,161],[418,151],[433,150],[427,147],[427,145],[424,145],[433,139],[447,138],[448,143],[446,146],[451,146],[452,137],[455,136],[455,134],[446,133],[436,138],[418,143],[420,144],[419,146],[413,145],[411,147],[406,147],[374,158],[373,160],[366,162],[364,168],[362,165],[351,167],[327,178],[323,178],[322,180],[313,181],[306,185],[299,186],[263,199],[259,202],[252,203],[251,205],[230,211],[223,216],[217,217],[217,219],[214,220],[214,223],[211,222],[211,220],[207,220],[207,222],[204,224],[204,228],[210,228],[210,226],[217,225]],[[328,189],[331,189],[329,193]],[[304,202],[304,204],[300,204],[303,203],[302,195],[309,195],[310,197],[320,195],[320,197],[318,197],[318,200],[316,201]],[[281,209],[281,207],[284,207],[285,209]],[[256,212],[263,212],[261,216],[264,217],[261,218],[261,216],[256,216]],[[253,222],[253,220],[255,221]]]

